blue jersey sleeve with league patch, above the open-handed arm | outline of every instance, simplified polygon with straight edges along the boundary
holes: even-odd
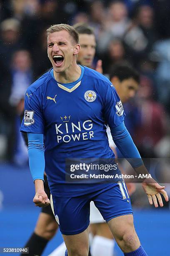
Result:
[[[108,84],[104,101],[104,118],[110,128],[120,125],[125,118],[122,102],[112,84]]]

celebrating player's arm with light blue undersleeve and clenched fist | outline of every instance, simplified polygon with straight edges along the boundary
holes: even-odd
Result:
[[[25,114],[20,131],[28,135],[28,155],[30,172],[35,184],[35,197],[33,202],[36,206],[44,207],[49,205],[50,200],[44,191],[44,118],[42,115],[42,100],[40,90],[34,86],[28,87],[25,94]]]

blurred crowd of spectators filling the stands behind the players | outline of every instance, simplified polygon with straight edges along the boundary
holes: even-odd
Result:
[[[169,0],[0,0],[0,159],[27,163],[19,133],[27,87],[51,67],[46,29],[87,23],[103,73],[125,62],[140,89],[125,104],[126,125],[141,156],[170,156]]]

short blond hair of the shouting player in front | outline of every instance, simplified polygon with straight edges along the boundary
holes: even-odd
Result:
[[[50,28],[47,28],[47,38],[50,33],[58,32],[66,30],[70,36],[73,38],[76,44],[79,44],[79,33],[73,28],[72,26],[68,24],[55,24],[51,25]]]

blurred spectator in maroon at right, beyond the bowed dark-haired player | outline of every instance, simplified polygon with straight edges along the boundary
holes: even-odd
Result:
[[[142,157],[155,157],[154,148],[166,134],[166,113],[158,102],[153,100],[153,84],[142,77],[137,93],[137,107],[140,120],[135,131],[135,145]]]

